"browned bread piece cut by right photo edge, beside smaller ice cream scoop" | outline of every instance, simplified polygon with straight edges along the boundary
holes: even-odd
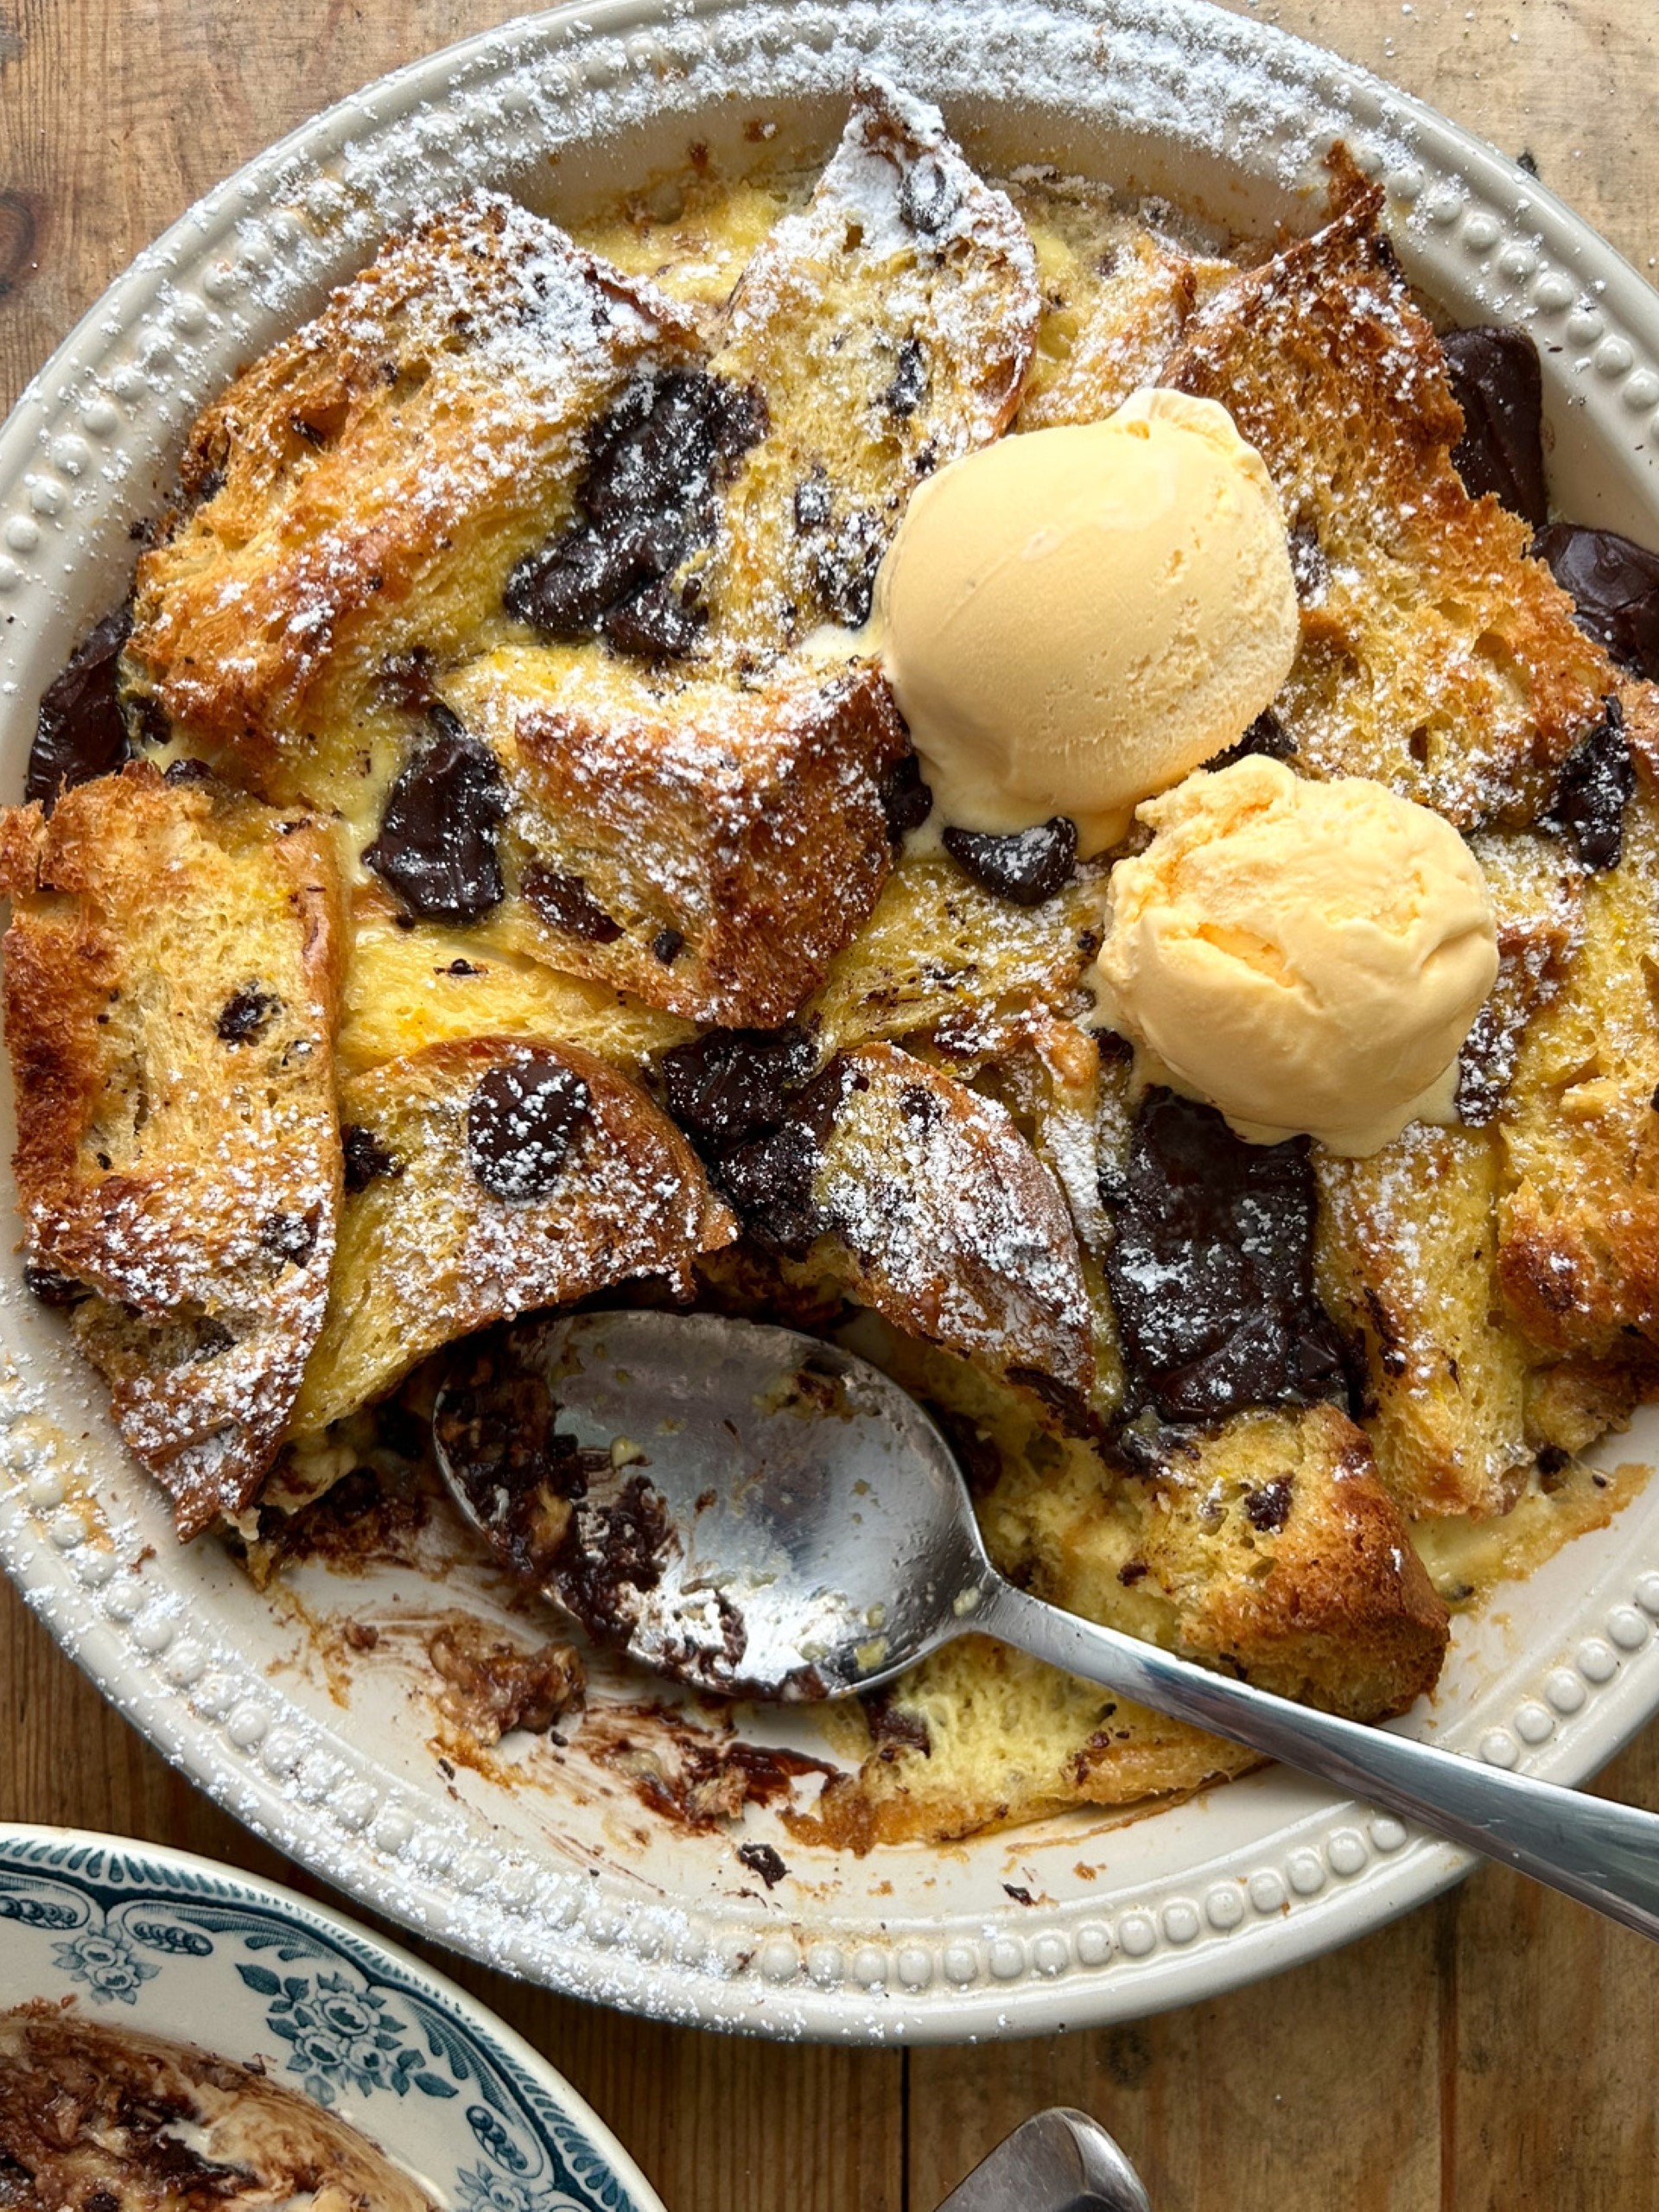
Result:
[[[1646,761],[1624,856],[1584,878],[1584,938],[1528,1024],[1498,1130],[1498,1279],[1544,1356],[1659,1345],[1659,801]]]

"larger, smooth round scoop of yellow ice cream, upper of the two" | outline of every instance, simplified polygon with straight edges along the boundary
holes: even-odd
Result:
[[[1267,469],[1225,407],[1179,392],[1002,438],[911,493],[876,637],[945,823],[1068,814],[1099,852],[1290,672]]]

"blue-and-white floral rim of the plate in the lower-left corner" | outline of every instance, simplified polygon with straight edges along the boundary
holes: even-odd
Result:
[[[453,1982],[206,1858],[0,1827],[0,2004],[31,1997],[263,2059],[445,2212],[664,2212],[568,2081]]]

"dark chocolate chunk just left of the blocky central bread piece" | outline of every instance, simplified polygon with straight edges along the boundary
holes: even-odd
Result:
[[[392,785],[380,836],[363,860],[405,914],[422,922],[476,922],[504,898],[495,827],[507,814],[507,787],[489,745],[442,712],[449,719],[440,734]]]

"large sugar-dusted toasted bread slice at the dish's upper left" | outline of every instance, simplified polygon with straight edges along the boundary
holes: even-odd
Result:
[[[197,420],[195,507],[137,566],[135,684],[250,779],[303,783],[319,739],[358,743],[383,664],[471,650],[588,425],[692,347],[688,310],[511,199],[425,215]]]

